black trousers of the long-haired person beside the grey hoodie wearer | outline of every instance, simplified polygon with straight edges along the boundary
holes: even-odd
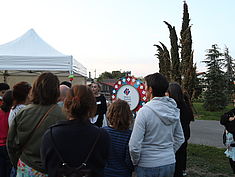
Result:
[[[175,153],[175,174],[174,177],[182,177],[183,171],[186,170],[187,163],[187,146],[188,142],[185,141],[178,151]]]

